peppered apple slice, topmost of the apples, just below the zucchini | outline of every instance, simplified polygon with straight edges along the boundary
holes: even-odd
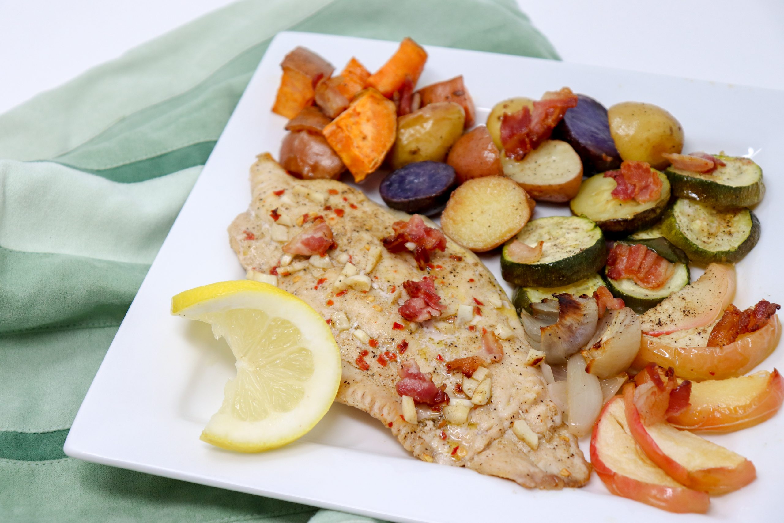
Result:
[[[697,281],[667,296],[642,315],[642,332],[662,336],[708,325],[724,314],[735,296],[735,267],[711,263]]]

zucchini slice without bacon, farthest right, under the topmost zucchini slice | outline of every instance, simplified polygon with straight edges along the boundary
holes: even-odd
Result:
[[[678,198],[664,217],[662,232],[695,263],[735,263],[757,245],[760,220],[750,209],[720,210]]]

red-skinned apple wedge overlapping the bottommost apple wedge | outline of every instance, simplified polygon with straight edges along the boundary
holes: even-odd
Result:
[[[634,406],[632,383],[623,387],[623,403],[634,441],[653,463],[681,485],[699,492],[724,494],[757,478],[748,459],[688,430],[677,430],[663,422],[645,427]]]

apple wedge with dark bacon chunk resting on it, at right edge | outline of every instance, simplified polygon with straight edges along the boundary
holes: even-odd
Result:
[[[662,302],[663,303],[663,302]],[[724,380],[742,376],[773,352],[781,337],[779,315],[759,330],[747,332],[723,347],[706,347],[713,324],[659,336],[642,336],[634,366],[655,363],[672,367],[684,380]]]

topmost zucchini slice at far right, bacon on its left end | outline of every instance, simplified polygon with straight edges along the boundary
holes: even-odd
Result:
[[[666,169],[673,195],[728,209],[750,207],[762,200],[765,184],[762,169],[749,158],[716,155],[727,165],[713,173],[702,174]]]

